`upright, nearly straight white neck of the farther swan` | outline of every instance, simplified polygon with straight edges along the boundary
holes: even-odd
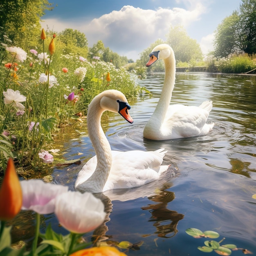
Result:
[[[168,58],[164,59],[164,69],[165,76],[162,93],[157,103],[157,107],[155,108],[155,112],[152,115],[159,119],[158,124],[162,124],[164,121],[172,97],[176,72],[174,54],[171,54]]]

